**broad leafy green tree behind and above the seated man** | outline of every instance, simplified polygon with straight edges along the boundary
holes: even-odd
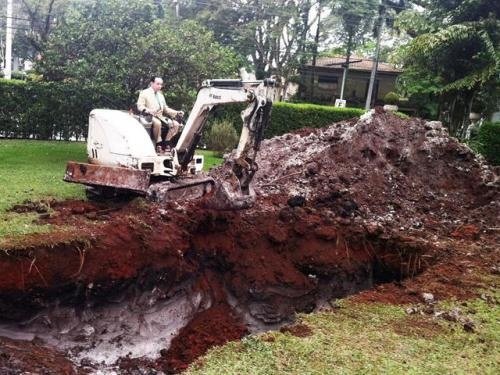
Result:
[[[36,69],[45,80],[112,83],[131,95],[161,75],[172,105],[194,99],[203,79],[236,73],[235,55],[208,30],[161,16],[153,0],[81,2],[49,36]]]

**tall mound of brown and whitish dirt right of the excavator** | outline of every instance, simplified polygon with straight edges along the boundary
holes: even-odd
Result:
[[[302,198],[369,233],[448,234],[468,221],[494,225],[499,212],[494,170],[436,121],[377,110],[265,141],[258,163],[262,200]]]

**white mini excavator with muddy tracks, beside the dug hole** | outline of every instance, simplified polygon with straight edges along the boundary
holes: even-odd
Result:
[[[271,114],[275,81],[206,80],[175,146],[157,153],[140,115],[94,109],[89,116],[88,163],[70,161],[64,180],[87,186],[87,196],[107,198],[134,193],[155,202],[196,199],[210,195],[213,207],[250,207],[257,171],[255,158]],[[248,103],[242,112],[238,146],[226,160],[220,179],[203,173],[203,156],[196,155],[203,128],[217,106]]]

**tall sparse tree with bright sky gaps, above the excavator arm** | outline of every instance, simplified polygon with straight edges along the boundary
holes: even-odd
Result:
[[[314,25],[312,0],[181,1],[180,16],[196,18],[251,61],[257,78],[276,75],[286,82],[309,54]]]

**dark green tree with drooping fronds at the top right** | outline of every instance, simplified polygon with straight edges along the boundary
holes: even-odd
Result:
[[[403,13],[399,20],[399,27],[415,36],[400,51],[403,87],[409,95],[434,97],[450,133],[463,136],[474,106],[487,114],[498,105],[497,99],[482,98],[498,98],[500,5],[488,0],[421,5],[423,12]]]

